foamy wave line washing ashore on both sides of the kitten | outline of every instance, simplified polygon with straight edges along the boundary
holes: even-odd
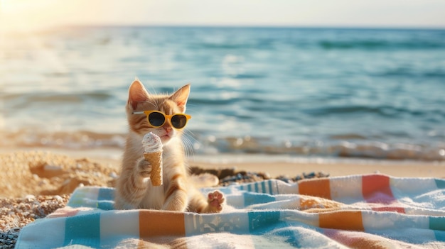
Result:
[[[119,148],[124,150],[126,134],[95,133],[90,131],[55,132],[20,130],[1,131],[2,147],[48,147],[67,149]],[[379,160],[422,160],[445,161],[445,143],[419,145],[409,143],[382,143],[368,140],[362,135],[335,135],[337,142],[293,144],[289,141],[274,143],[271,138],[225,137],[208,135],[187,138],[186,148],[193,155],[215,155],[218,153],[247,153],[266,155],[295,155],[322,157],[355,157]]]

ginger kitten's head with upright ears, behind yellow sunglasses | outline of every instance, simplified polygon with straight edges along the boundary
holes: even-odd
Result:
[[[133,113],[139,111],[161,111],[166,115],[184,114],[189,93],[190,84],[186,84],[170,95],[151,94],[138,79],[134,80],[129,88],[126,108],[130,130],[140,136],[152,132],[161,138],[163,145],[166,145],[171,138],[181,135],[183,131],[173,128],[169,121],[156,128],[151,126],[146,118],[146,114]]]

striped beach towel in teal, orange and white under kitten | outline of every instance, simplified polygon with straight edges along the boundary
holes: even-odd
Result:
[[[113,209],[81,187],[16,248],[445,248],[445,180],[353,175],[218,187],[220,214]],[[202,189],[208,192],[212,189]]]

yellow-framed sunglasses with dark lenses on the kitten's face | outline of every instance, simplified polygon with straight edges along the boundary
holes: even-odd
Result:
[[[149,124],[156,128],[163,126],[168,120],[173,128],[182,129],[186,126],[188,119],[192,118],[187,114],[166,115],[161,111],[134,111],[132,114],[145,114]]]

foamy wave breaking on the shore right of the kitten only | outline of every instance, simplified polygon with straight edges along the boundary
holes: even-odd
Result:
[[[206,150],[212,147],[216,147],[224,153],[358,157],[382,160],[445,160],[445,145],[434,147],[409,143],[388,144],[370,140],[362,142],[341,140],[337,143],[318,142],[313,145],[292,145],[292,143],[287,141],[274,145],[270,143],[262,143],[261,139],[247,136],[245,138],[225,138],[222,141],[213,139],[213,142],[207,142],[203,146]]]

